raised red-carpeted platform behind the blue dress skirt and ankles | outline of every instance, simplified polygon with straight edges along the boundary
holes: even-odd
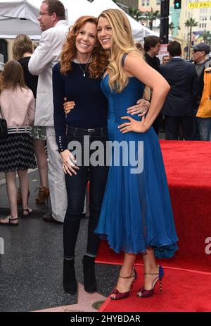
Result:
[[[211,272],[211,254],[205,253],[211,238],[211,142],[161,140],[160,145],[179,237],[178,253],[161,265]],[[122,257],[101,241],[96,262],[120,264]]]

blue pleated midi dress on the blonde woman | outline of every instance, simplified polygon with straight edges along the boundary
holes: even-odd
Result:
[[[178,249],[178,238],[158,136],[153,127],[126,134],[117,128],[124,122],[121,117],[129,115],[127,108],[142,97],[144,85],[132,77],[122,92],[113,92],[107,75],[101,87],[108,99],[108,139],[117,143],[110,145],[108,181],[95,232],[106,237],[115,253],[154,248],[157,258],[170,258]],[[124,149],[118,150],[122,141]],[[125,143],[130,144],[128,150]]]

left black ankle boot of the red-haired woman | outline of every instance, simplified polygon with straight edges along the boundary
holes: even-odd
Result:
[[[74,259],[64,259],[63,264],[63,289],[68,294],[75,294],[77,292],[77,281],[75,278]]]

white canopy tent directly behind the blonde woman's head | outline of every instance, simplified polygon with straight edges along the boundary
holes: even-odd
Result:
[[[95,6],[98,8],[98,15],[101,13],[101,11],[106,10],[106,9],[120,9],[122,10],[115,2],[112,0],[94,0],[91,3],[92,6]],[[127,15],[127,14],[126,14]],[[134,18],[131,16],[127,15],[127,18],[129,19],[129,23],[132,27],[132,33],[134,37],[135,42],[141,42],[143,41],[144,37],[147,35],[156,35],[159,36],[158,33],[153,32],[153,30],[150,30],[149,28],[146,28],[145,26],[141,25],[138,23]]]

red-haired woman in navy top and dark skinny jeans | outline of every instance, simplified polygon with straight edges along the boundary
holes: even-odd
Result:
[[[83,258],[84,289],[89,293],[96,291],[94,260],[99,237],[94,230],[108,174],[105,162],[98,165],[90,163],[94,151],[89,152],[89,143],[100,141],[106,157],[108,104],[100,83],[108,57],[97,43],[96,24],[96,18],[91,16],[83,16],[76,21],[64,44],[60,63],[53,68],[54,126],[68,192],[68,209],[63,226],[63,287],[69,294],[77,291],[75,244],[84,210],[88,173],[90,216],[87,252]],[[63,109],[64,97],[75,104],[75,109],[67,116]],[[75,156],[72,152],[74,142],[78,142],[76,150],[81,149]]]

